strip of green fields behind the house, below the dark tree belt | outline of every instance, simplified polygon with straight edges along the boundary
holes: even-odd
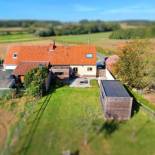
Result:
[[[108,33],[94,33],[86,35],[68,35],[68,36],[55,36],[55,37],[42,37],[39,38],[33,34],[23,33],[23,34],[10,34],[10,35],[0,35],[0,43],[9,42],[24,42],[24,41],[36,41],[36,40],[50,40],[55,39],[57,42],[61,43],[96,43],[98,41],[107,39],[111,32]],[[90,39],[89,39],[90,38]]]

